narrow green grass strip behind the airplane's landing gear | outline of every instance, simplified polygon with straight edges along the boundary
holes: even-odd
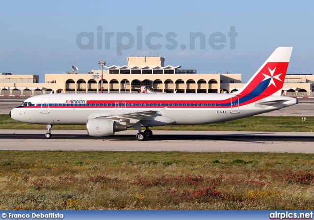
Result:
[[[0,129],[43,129],[45,125],[27,124],[15,121],[7,114],[0,114]],[[85,130],[86,125],[54,125],[54,129]],[[188,130],[188,131],[265,131],[265,132],[311,132],[314,131],[314,117],[296,116],[252,116],[243,119],[208,125],[173,125],[150,128],[152,130]]]

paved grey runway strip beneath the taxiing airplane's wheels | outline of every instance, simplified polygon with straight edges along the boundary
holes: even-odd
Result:
[[[314,133],[153,131],[137,141],[137,131],[95,138],[82,130],[0,130],[1,150],[224,151],[314,153]]]

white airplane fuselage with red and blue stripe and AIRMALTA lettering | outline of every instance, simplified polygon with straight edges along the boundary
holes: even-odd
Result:
[[[263,102],[285,100],[273,105],[259,101],[241,104],[235,94],[47,94],[25,100],[29,106],[11,110],[13,119],[34,124],[86,124],[87,119],[120,113],[162,110],[147,126],[195,125],[229,121],[297,104],[297,99],[268,96]],[[157,123],[160,118],[161,123]],[[169,119],[169,120],[168,120]],[[119,120],[115,118],[115,120]],[[128,121],[130,125],[136,121]],[[145,120],[141,121],[143,125]],[[121,123],[123,121],[121,120]],[[131,127],[131,126],[129,126]]]

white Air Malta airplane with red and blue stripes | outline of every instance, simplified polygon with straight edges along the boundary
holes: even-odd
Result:
[[[249,117],[298,104],[281,96],[292,47],[277,48],[242,89],[221,94],[45,94],[26,99],[10,111],[12,119],[52,125],[83,125],[93,137],[133,128],[143,141],[162,125],[200,125]],[[142,132],[142,127],[145,127]]]

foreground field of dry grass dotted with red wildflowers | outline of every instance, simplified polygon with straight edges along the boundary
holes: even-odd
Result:
[[[314,157],[1,151],[1,210],[313,210]]]

